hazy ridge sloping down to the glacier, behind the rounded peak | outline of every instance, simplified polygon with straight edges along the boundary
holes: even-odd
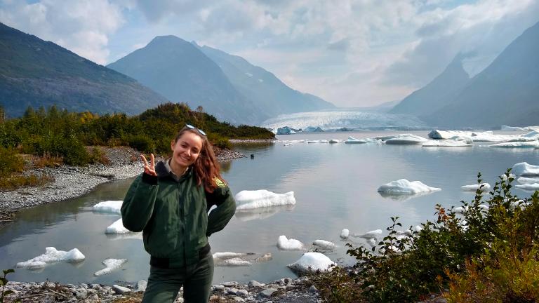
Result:
[[[286,86],[274,74],[252,65],[244,58],[193,44],[219,65],[239,93],[253,100],[270,117],[335,108],[335,105],[315,95],[301,93]]]

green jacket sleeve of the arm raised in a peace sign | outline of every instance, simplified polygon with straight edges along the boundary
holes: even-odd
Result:
[[[142,231],[152,217],[159,185],[158,177],[142,173],[129,187],[121,204],[121,219],[130,231]]]

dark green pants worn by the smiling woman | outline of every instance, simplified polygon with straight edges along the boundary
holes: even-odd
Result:
[[[211,253],[187,267],[164,269],[152,266],[142,303],[172,303],[182,286],[185,303],[207,303],[212,279]]]

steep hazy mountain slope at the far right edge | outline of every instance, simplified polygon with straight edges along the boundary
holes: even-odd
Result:
[[[539,22],[510,43],[446,107],[424,120],[433,126],[499,128],[539,121]]]

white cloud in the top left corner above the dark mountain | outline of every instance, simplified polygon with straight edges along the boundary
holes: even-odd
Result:
[[[4,1],[0,20],[100,64],[109,56],[109,34],[124,23],[121,8],[107,0]]]

